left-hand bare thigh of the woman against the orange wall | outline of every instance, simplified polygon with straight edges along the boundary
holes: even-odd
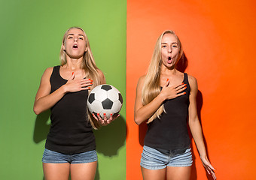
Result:
[[[166,168],[164,169],[145,169],[142,167],[143,180],[165,180]]]

